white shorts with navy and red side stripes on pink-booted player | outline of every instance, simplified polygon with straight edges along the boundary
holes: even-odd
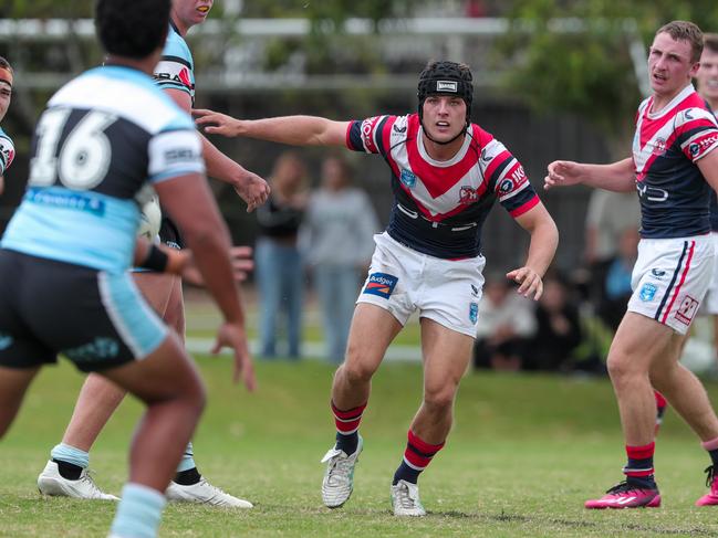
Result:
[[[712,268],[710,235],[642,239],[631,277],[628,310],[685,335],[710,285]]]

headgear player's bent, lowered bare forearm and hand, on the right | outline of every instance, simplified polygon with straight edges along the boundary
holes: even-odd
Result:
[[[517,222],[531,234],[529,255],[523,267],[507,273],[507,278],[520,284],[518,292],[538,300],[543,294],[545,274],[559,245],[559,230],[543,203],[517,217]]]

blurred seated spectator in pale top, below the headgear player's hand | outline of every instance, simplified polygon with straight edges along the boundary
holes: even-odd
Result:
[[[518,295],[503,274],[487,275],[479,306],[474,366],[517,371],[535,333],[531,300]]]

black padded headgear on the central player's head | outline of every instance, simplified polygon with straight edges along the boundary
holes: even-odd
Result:
[[[468,65],[456,62],[429,62],[419,75],[416,96],[419,98],[419,118],[424,116],[424,102],[429,95],[455,95],[466,103],[466,123],[471,123],[474,77]],[[455,84],[454,84],[455,83]]]

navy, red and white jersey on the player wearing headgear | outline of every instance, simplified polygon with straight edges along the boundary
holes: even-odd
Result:
[[[521,163],[478,125],[471,124],[461,149],[447,161],[427,154],[417,114],[351,122],[346,146],[384,157],[394,192],[387,232],[424,254],[477,256],[496,199],[513,218],[539,203]]]

